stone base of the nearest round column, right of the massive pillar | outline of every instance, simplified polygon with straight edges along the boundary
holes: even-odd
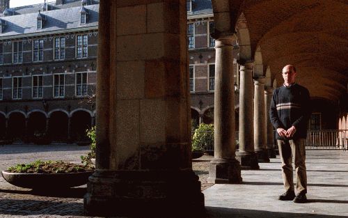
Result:
[[[241,166],[235,158],[214,158],[209,164],[208,183],[242,184]]]

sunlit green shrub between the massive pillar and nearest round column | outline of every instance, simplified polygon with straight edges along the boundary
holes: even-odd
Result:
[[[214,146],[214,124],[201,123],[192,137],[192,151],[207,150]]]

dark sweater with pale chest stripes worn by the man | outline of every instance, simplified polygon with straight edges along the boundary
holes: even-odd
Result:
[[[294,126],[296,132],[293,139],[306,139],[310,118],[310,96],[307,88],[299,84],[276,88],[271,100],[269,116],[276,129],[285,130]],[[276,139],[284,140],[276,132]]]

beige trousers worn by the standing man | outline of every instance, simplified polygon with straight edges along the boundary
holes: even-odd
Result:
[[[277,140],[285,191],[294,191],[292,157],[296,169],[296,192],[307,193],[306,139]]]

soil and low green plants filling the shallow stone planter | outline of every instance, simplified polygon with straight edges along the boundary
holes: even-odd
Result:
[[[6,171],[10,173],[77,173],[93,171],[93,166],[72,164],[63,161],[41,161],[37,160],[29,164],[17,164],[9,167]]]

